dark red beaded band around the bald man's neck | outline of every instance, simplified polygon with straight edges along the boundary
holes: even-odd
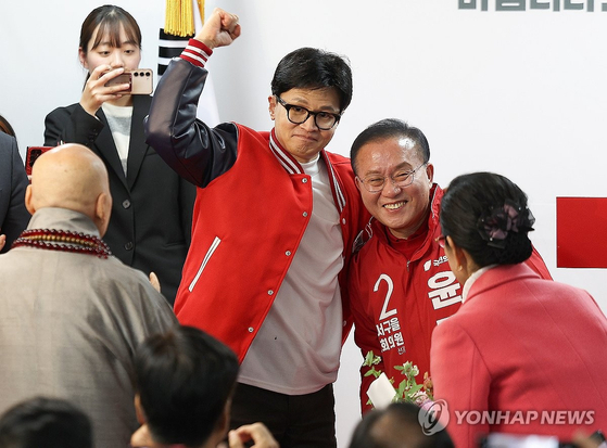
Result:
[[[14,241],[12,248],[22,246],[88,254],[99,258],[108,258],[108,256],[112,255],[108,244],[100,238],[68,230],[24,230],[20,238]]]

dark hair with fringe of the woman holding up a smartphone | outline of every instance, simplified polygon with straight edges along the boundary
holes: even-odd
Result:
[[[92,39],[94,30],[99,26],[99,33],[92,42],[91,50],[101,43],[104,36],[110,38],[110,43],[113,47],[118,47],[121,42],[121,28],[124,28],[128,40],[131,40],[136,46],[141,49],[141,29],[137,21],[132,18],[128,12],[121,7],[113,4],[104,4],[103,7],[96,8],[85,18],[83,27],[80,28],[80,43],[85,55],[88,52],[89,41]]]

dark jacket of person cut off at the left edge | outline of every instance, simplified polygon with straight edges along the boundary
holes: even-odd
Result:
[[[7,235],[2,253],[11,248],[31,218],[25,209],[27,184],[15,138],[0,131],[0,234]]]

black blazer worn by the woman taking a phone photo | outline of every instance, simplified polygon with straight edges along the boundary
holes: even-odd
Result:
[[[97,118],[80,104],[59,107],[45,120],[45,144],[81,143],[105,163],[113,205],[103,240],[126,265],[154,271],[173,304],[190,245],[195,187],[181,179],[144,142],[143,118],[151,97],[132,97],[132,121],[125,177],[103,111]]]

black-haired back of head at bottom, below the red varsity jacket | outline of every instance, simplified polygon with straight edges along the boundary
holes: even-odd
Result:
[[[135,374],[153,438],[202,445],[231,396],[238,370],[229,347],[193,327],[146,340],[135,356]]]

